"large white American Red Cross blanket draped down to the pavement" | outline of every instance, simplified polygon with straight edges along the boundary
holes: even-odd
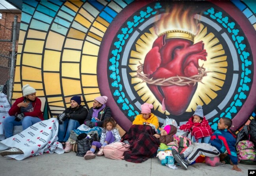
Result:
[[[8,157],[22,160],[26,157],[46,153],[63,154],[63,146],[58,142],[59,122],[56,118],[43,120],[33,124],[23,132],[0,142],[0,150],[16,147],[24,154],[9,155]]]

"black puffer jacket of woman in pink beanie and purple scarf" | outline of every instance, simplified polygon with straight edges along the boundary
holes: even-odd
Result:
[[[106,118],[110,118],[111,116],[112,116],[112,114],[111,114],[110,107],[106,106],[104,109],[102,109],[102,111],[100,111],[98,113],[97,118],[101,121],[97,122],[97,126],[102,127],[103,120],[106,119]],[[85,122],[88,121],[88,120],[91,120],[92,118],[93,118],[93,107],[91,107],[89,109],[89,113],[87,114],[87,117],[84,120],[84,124],[86,124]]]

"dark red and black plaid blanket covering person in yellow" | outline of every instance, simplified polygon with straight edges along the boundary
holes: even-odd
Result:
[[[159,139],[154,137],[155,130],[149,125],[132,125],[123,138],[130,143],[130,150],[124,152],[124,159],[132,163],[142,163],[154,157],[160,145]]]

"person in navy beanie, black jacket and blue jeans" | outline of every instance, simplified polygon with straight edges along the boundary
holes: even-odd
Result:
[[[87,108],[81,106],[81,97],[73,96],[70,99],[70,107],[57,116],[59,120],[58,140],[59,142],[65,143],[64,152],[70,152],[72,150],[72,145],[70,142],[67,142],[70,131],[75,130],[83,124],[87,113]]]

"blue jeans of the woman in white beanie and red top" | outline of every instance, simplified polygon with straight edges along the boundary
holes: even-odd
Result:
[[[22,130],[26,130],[33,124],[41,121],[41,119],[39,119],[38,117],[31,116],[25,116],[24,119],[19,122],[15,121],[14,119],[15,116],[7,116],[4,119],[4,133],[6,135],[6,138],[13,136],[13,126],[22,125]]]

